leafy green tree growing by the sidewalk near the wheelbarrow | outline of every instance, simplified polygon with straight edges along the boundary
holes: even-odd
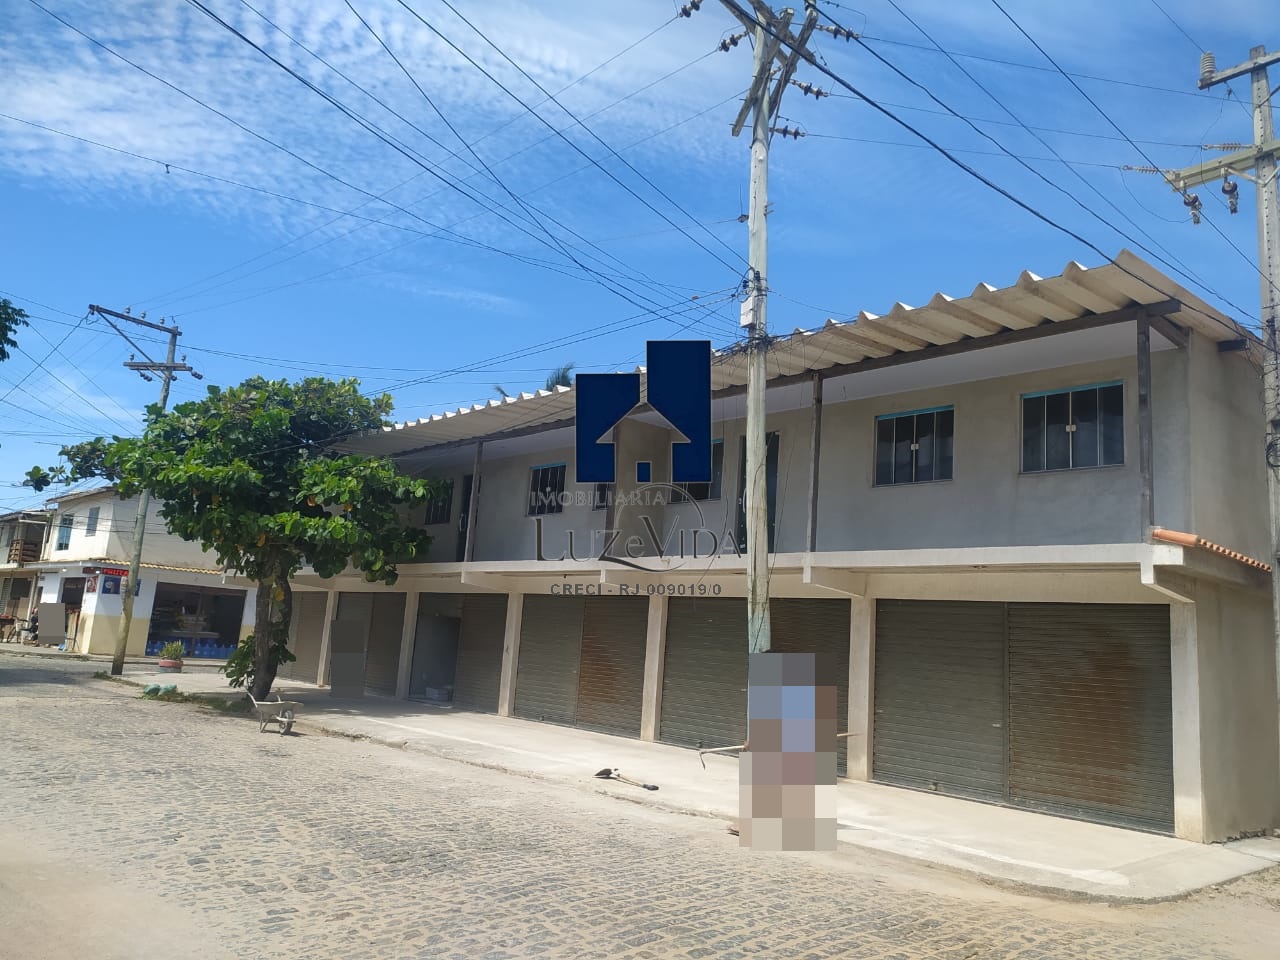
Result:
[[[349,564],[370,582],[394,584],[397,563],[431,541],[404,513],[436,495],[439,481],[335,445],[385,426],[390,410],[389,396],[362,397],[357,380],[252,378],[210,387],[204,399],[165,413],[150,408],[140,438],[67,447],[67,466],[36,467],[27,483],[41,489],[105,476],[122,497],[148,490],[170,532],[255,580],[253,635],[225,669],[233,685],[248,684],[261,699],[280,663],[293,659],[292,576],[310,566],[330,577]]]

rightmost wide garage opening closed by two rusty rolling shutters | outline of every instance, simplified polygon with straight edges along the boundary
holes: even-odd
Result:
[[[876,607],[873,776],[1167,832],[1169,608]]]

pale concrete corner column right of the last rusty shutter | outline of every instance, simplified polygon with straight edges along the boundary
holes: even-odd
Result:
[[[1194,603],[1169,604],[1174,708],[1174,835],[1206,842],[1199,630]]]

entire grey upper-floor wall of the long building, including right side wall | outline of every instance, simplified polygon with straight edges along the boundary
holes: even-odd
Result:
[[[1123,465],[1085,470],[1021,472],[1021,396],[1121,380],[1125,402]],[[1266,498],[1261,447],[1258,375],[1240,355],[1221,355],[1192,335],[1187,349],[1152,355],[1153,493],[1158,526],[1192,530],[1234,549],[1265,557]],[[876,417],[936,406],[955,408],[954,476],[923,484],[876,486]],[[641,529],[646,515],[663,532],[668,552],[680,531],[691,550],[698,527],[732,541],[741,495],[744,420],[713,425],[723,442],[719,499],[695,504],[623,509],[612,517],[627,535],[640,535],[644,554],[654,553]],[[780,435],[776,543],[778,552],[803,552],[812,462],[812,410],[772,413],[768,430]],[[1119,357],[1032,374],[992,378],[874,398],[846,399],[828,385],[823,412],[819,472],[818,549],[911,549],[1135,543],[1143,535],[1138,462],[1137,361]],[[653,462],[653,479],[669,477],[664,433],[636,420],[618,430],[620,486],[634,483],[636,460]],[[593,547],[593,531],[607,526],[590,507],[593,485],[573,483],[573,449],[559,447],[488,460],[477,513],[476,561],[534,559],[535,524],[529,517],[530,468],[567,465],[566,492],[576,500],[543,521],[544,556],[567,552],[573,532],[577,556]],[[452,562],[461,503],[461,470],[453,470],[456,495],[448,525],[436,527],[430,561]],[[434,532],[435,530],[433,530]],[[709,538],[699,543],[700,553]]]

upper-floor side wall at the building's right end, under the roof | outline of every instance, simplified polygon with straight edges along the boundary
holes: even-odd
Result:
[[[1266,558],[1266,461],[1261,374],[1243,353],[1219,353],[1193,337],[1188,347],[1190,518],[1207,540]]]

